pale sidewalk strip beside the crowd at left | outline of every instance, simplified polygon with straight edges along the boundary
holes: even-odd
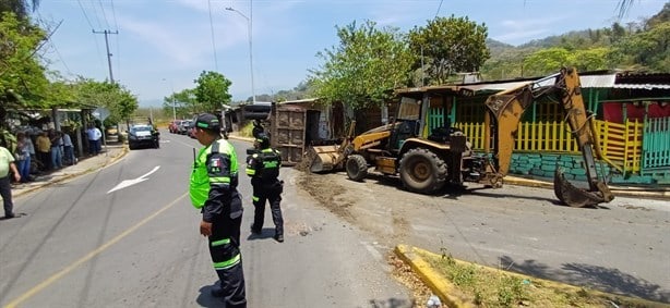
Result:
[[[65,180],[98,170],[122,158],[128,152],[128,147],[120,143],[108,143],[103,146],[103,151],[97,156],[79,158],[79,162],[73,165],[63,165],[62,169],[44,172],[28,183],[13,183],[12,197],[28,194],[41,187],[60,183]]]

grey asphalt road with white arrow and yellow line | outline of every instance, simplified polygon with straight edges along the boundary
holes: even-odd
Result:
[[[0,222],[0,306],[222,307],[201,215],[188,198],[196,140],[161,135],[99,171],[16,198],[26,213]],[[243,160],[250,145],[232,140]],[[242,175],[242,258],[249,307],[410,307],[375,239],[296,192],[283,174],[285,243],[270,210],[249,237],[251,186]]]

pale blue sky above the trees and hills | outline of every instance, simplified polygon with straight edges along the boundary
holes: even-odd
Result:
[[[252,2],[253,1],[253,2]],[[232,82],[234,100],[251,96],[248,20],[255,94],[291,89],[338,44],[335,26],[371,20],[406,32],[435,15],[484,23],[489,37],[521,45],[570,30],[608,27],[619,0],[43,0],[34,16],[61,23],[40,52],[49,69],[74,79],[113,79],[141,107],[193,88],[202,71]],[[667,0],[636,0],[625,24],[659,12]],[[225,8],[234,8],[227,11]],[[239,13],[238,13],[239,12]],[[243,16],[242,16],[243,15]],[[246,17],[244,17],[246,16]]]

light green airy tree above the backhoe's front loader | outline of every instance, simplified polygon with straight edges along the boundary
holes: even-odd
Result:
[[[324,102],[358,110],[383,103],[391,89],[407,85],[412,56],[397,28],[378,29],[367,21],[336,29],[339,46],[319,52],[324,63],[310,70],[309,84]]]

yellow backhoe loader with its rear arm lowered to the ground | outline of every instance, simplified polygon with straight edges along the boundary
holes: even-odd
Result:
[[[555,97],[563,107],[583,155],[588,182],[588,188],[578,188],[557,168],[557,197],[571,207],[611,201],[612,193],[596,172],[596,158],[601,158],[601,151],[574,69],[562,69],[560,73],[488,97],[486,111],[482,110],[488,128],[483,153],[472,151],[467,136],[451,127],[448,121],[428,134],[430,96],[427,91],[405,89],[396,91],[397,112],[388,124],[348,136],[340,145],[311,147],[308,150],[310,171],[344,169],[350,180],[362,181],[373,168],[383,175],[399,176],[407,190],[421,194],[434,194],[445,185],[462,186],[465,182],[502,187],[522,115],[542,96]]]

